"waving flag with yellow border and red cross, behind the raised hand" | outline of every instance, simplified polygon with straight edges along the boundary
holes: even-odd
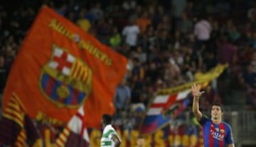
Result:
[[[156,97],[147,107],[142,121],[141,133],[151,134],[164,127],[169,121],[181,114],[191,98],[191,85],[199,83],[201,88],[208,86],[210,81],[218,78],[227,65],[220,64],[206,73],[196,73],[195,81],[174,88],[165,88],[156,92]]]

